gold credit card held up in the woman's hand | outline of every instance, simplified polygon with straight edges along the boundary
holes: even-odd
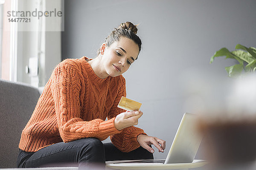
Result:
[[[124,96],[122,96],[120,102],[117,105],[118,108],[124,109],[126,111],[138,111],[140,109],[140,106],[141,103],[135,102],[131,99],[127,99]]]

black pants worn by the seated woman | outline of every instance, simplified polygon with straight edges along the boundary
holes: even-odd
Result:
[[[79,167],[105,169],[105,161],[154,159],[153,154],[139,147],[129,153],[118,150],[112,143],[102,143],[96,138],[60,142],[37,152],[19,151],[17,167]]]

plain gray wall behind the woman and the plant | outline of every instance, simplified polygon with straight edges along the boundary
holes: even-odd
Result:
[[[224,68],[236,62],[209,64],[214,52],[256,46],[255,0],[65,0],[64,13],[63,59],[95,58],[114,27],[140,23],[142,51],[124,77],[127,97],[143,103],[138,127],[167,142],[157,159],[166,157],[184,112],[223,105],[233,81]]]

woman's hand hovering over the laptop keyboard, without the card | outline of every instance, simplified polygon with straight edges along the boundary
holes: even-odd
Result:
[[[163,152],[166,147],[166,142],[162,139],[158,139],[157,137],[147,136],[140,134],[137,136],[137,141],[139,142],[140,146],[148,150],[148,152],[154,153],[154,149],[149,145],[154,144],[157,147],[158,152]]]

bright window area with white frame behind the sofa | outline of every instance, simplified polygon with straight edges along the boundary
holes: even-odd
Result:
[[[62,0],[1,2],[0,78],[44,86],[61,62]]]

